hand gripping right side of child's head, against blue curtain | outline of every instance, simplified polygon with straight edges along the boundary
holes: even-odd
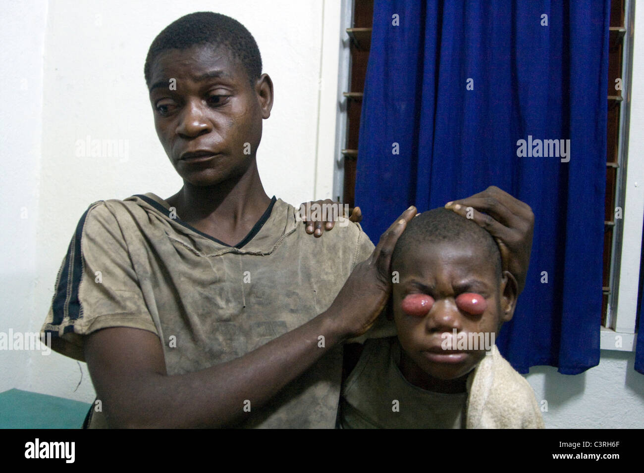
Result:
[[[521,292],[526,285],[535,228],[535,215],[530,206],[504,190],[491,186],[468,198],[450,202],[445,207],[473,219],[488,230],[497,241],[504,269],[514,275],[518,291]]]

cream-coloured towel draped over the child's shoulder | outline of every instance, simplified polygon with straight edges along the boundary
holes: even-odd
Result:
[[[496,345],[469,376],[467,389],[467,429],[545,428],[531,385]]]

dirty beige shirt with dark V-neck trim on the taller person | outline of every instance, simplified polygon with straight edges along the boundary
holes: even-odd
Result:
[[[374,248],[354,223],[312,237],[275,198],[238,247],[171,216],[151,193],[90,206],[43,326],[62,339],[57,351],[83,360],[84,335],[118,326],[158,335],[168,375],[227,362],[327,310]],[[236,427],[334,427],[341,358],[332,349]],[[104,426],[93,412],[90,427]]]

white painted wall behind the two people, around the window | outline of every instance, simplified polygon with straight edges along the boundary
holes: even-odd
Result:
[[[5,5],[0,192],[8,221],[2,233],[0,331],[39,331],[59,264],[89,203],[149,191],[167,197],[180,187],[156,138],[142,70],[155,35],[181,15],[199,10],[231,15],[258,41],[275,85],[258,152],[269,195],[292,203],[330,196],[333,156],[323,138],[335,129],[328,120],[336,106],[325,97],[336,91],[328,81],[319,91],[318,83],[337,70],[335,43],[323,39],[322,26],[339,24],[339,1],[327,0],[324,7],[323,22],[321,0]],[[644,32],[644,15],[636,32],[638,26]],[[323,41],[330,47],[323,50]],[[639,51],[636,71],[644,67]],[[638,77],[634,92],[644,90],[644,73],[634,74]],[[632,116],[643,112],[633,110]],[[632,129],[636,123],[632,119]],[[75,142],[88,134],[129,140],[128,160],[77,158]],[[602,351],[600,365],[582,375],[534,367],[526,377],[537,399],[548,402],[547,427],[644,427],[644,376],[633,364],[632,353]],[[94,397],[87,367],[55,353],[0,351],[0,391],[12,387],[86,402]]]

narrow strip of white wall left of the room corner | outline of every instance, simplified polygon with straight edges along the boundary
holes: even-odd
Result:
[[[41,275],[36,260],[38,200],[43,130],[43,53],[46,3],[25,0],[3,5],[0,16],[0,192],[5,209],[1,232],[0,331],[28,331]],[[42,309],[41,313],[42,313]],[[36,331],[39,329],[35,329]],[[30,369],[26,351],[0,352],[0,391],[24,382]]]

